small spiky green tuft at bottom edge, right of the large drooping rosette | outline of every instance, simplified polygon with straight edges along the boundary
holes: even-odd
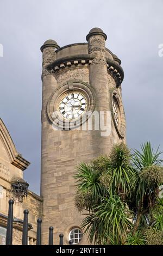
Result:
[[[146,239],[145,235],[139,230],[136,231],[135,235],[130,233],[127,236],[127,245],[145,245],[146,244]]]

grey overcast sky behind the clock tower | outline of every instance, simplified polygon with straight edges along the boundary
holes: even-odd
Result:
[[[127,143],[139,148],[162,141],[162,0],[0,0],[0,117],[17,150],[32,164],[24,171],[29,189],[40,193],[40,46],[85,42],[93,27],[108,35],[106,47],[122,60]]]

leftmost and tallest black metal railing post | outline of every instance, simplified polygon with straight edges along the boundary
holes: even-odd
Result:
[[[7,235],[6,245],[12,245],[12,227],[13,227],[13,204],[14,200],[9,200],[9,211],[8,211],[8,224],[7,224]]]

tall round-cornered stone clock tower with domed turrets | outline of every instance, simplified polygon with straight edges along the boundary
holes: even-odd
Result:
[[[88,244],[81,230],[83,215],[74,207],[77,164],[108,154],[114,143],[125,141],[121,60],[105,48],[100,28],[87,42],[59,47],[54,40],[42,46],[42,243],[48,227],[64,244]],[[92,118],[93,117],[93,118]],[[92,123],[92,125],[91,125]],[[101,125],[104,123],[105,125]]]

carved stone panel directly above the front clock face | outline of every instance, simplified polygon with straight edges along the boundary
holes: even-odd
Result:
[[[68,69],[56,75],[56,78],[59,85],[69,80],[81,80],[83,82],[89,83],[89,69]]]

